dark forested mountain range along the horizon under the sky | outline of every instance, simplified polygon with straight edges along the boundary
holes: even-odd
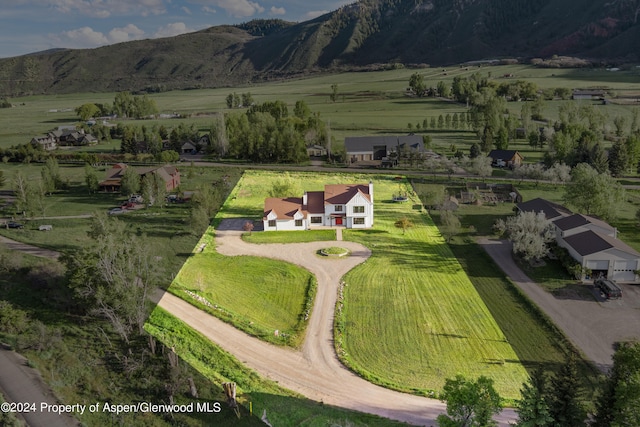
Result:
[[[0,96],[231,87],[337,70],[638,60],[640,0],[360,0],[316,19],[0,59]]]

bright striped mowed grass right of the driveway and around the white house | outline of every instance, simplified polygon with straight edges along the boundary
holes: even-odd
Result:
[[[428,394],[463,373],[493,378],[504,397],[519,395],[525,368],[405,180],[317,173],[290,173],[290,178],[307,191],[332,183],[374,183],[374,228],[344,232],[345,239],[373,252],[345,277],[338,328],[347,364],[402,390]],[[245,172],[218,219],[259,218],[271,183],[279,179],[280,172]],[[399,192],[409,192],[412,201],[391,202]],[[405,216],[413,227],[403,234],[394,222]]]

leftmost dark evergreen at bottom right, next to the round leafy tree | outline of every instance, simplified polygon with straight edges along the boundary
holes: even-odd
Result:
[[[553,418],[546,400],[547,379],[542,369],[536,369],[529,381],[522,384],[522,399],[516,402],[517,427],[551,427]]]

